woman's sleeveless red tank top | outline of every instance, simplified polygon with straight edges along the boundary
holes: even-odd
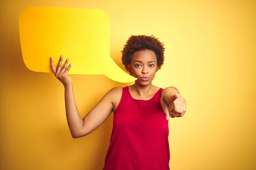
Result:
[[[169,170],[169,127],[160,88],[149,100],[134,99],[123,88],[103,170]]]

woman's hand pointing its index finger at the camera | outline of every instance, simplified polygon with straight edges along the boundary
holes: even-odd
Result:
[[[186,112],[186,100],[180,94],[169,94],[161,97],[161,106],[166,115],[169,117],[182,117]]]

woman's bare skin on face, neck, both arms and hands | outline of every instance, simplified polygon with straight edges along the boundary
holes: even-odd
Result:
[[[73,93],[73,83],[68,77],[68,71],[72,65],[68,66],[68,59],[61,68],[63,57],[60,57],[57,68],[55,68],[53,59],[50,58],[52,71],[55,77],[64,85],[65,88],[65,107],[67,123],[73,138],[86,136],[93,132],[97,127],[102,125],[110,114],[115,112],[122,96],[122,87],[115,87],[108,91],[107,94],[94,106],[89,113],[82,119],[76,107]],[[136,51],[131,57],[131,63],[128,65],[132,75],[138,78],[134,85],[129,86],[129,91],[134,99],[151,99],[159,90],[152,85],[152,80],[157,71],[157,57],[154,51],[142,50]],[[148,77],[143,81],[142,77]],[[169,117],[181,117],[186,112],[186,100],[179,94],[176,88],[165,88],[161,93],[161,106],[166,119]]]

